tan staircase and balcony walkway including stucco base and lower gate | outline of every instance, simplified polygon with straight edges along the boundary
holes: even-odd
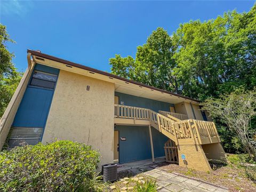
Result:
[[[153,126],[169,138],[164,145],[167,162],[210,171],[208,159],[227,161],[215,124],[186,118],[187,115],[167,111],[156,113],[145,108],[115,105],[115,124],[149,126],[149,128]],[[179,154],[186,156],[186,159],[180,159]]]

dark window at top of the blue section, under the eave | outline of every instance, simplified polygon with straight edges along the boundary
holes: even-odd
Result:
[[[57,75],[43,73],[41,71],[34,71],[30,85],[54,89],[56,81]]]

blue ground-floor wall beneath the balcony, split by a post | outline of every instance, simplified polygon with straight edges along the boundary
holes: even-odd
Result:
[[[147,126],[116,126],[119,130],[119,163],[127,163],[149,159],[151,146],[149,130]],[[164,156],[164,143],[168,140],[165,135],[151,127],[154,155],[155,157]],[[126,141],[120,138],[125,137]]]

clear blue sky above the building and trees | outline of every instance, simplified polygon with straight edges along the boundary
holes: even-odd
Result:
[[[16,44],[19,70],[27,68],[27,49],[110,71],[115,54],[135,56],[157,27],[172,34],[180,23],[216,18],[254,1],[1,1],[1,23]]]

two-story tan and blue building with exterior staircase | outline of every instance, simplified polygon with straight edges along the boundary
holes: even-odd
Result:
[[[226,161],[198,100],[39,51],[28,50],[27,59],[1,118],[1,149],[59,139],[93,146],[101,164],[165,156],[210,170],[209,160]]]

